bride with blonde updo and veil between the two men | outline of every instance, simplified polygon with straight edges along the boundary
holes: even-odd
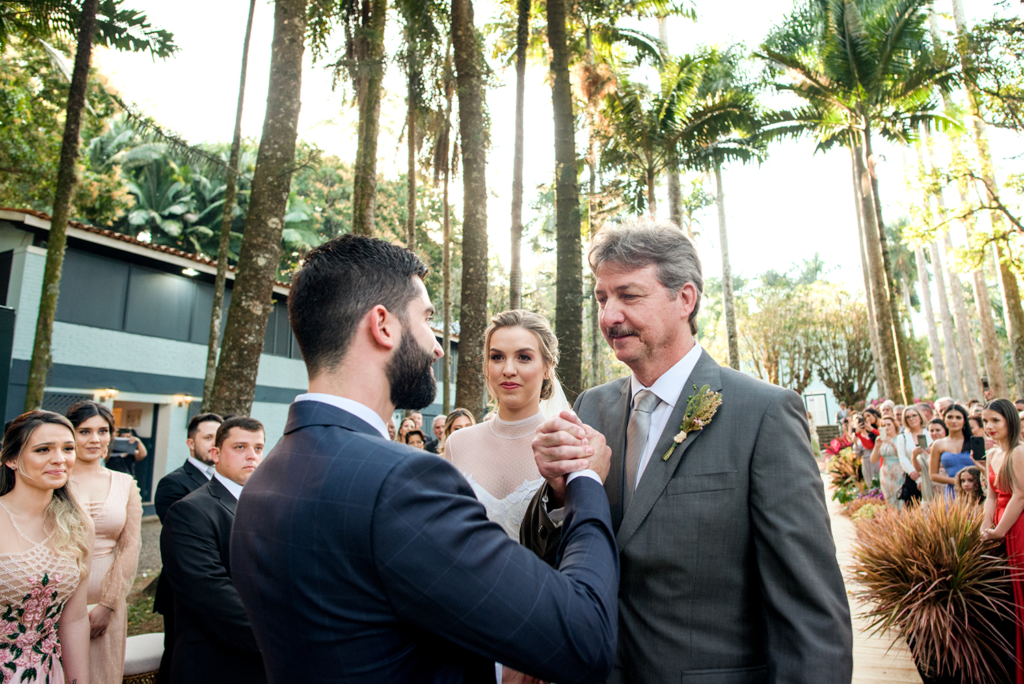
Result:
[[[498,416],[453,432],[444,455],[469,480],[487,517],[518,542],[523,513],[544,482],[534,434],[548,416],[569,408],[555,376],[558,340],[544,316],[516,309],[490,319],[483,349]]]

